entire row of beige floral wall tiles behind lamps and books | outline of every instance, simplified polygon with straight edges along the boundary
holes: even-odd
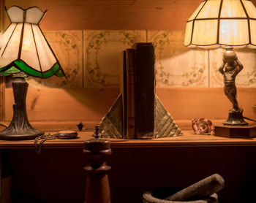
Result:
[[[157,87],[221,87],[223,49],[203,50],[184,47],[184,31],[80,30],[45,31],[67,74],[65,78],[37,79],[35,86],[62,88],[118,88],[123,51],[135,42],[153,42],[156,55]],[[236,50],[244,65],[238,87],[256,87],[255,50]]]

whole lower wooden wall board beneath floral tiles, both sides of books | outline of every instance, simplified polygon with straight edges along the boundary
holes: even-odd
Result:
[[[39,122],[39,126],[45,121],[48,130],[56,129],[54,126],[60,129],[76,128],[75,124],[79,121],[92,127],[99,124],[118,93],[118,89],[29,88],[29,120]],[[157,96],[181,129],[190,129],[192,118],[224,121],[231,108],[223,88],[157,88]],[[7,88],[7,120],[12,119],[12,103],[12,89]],[[244,116],[255,119],[252,104],[256,104],[256,88],[238,88],[238,104],[244,109]]]

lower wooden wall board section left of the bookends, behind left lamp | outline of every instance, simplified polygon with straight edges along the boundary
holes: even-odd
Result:
[[[31,121],[99,120],[118,96],[118,89],[32,88],[26,109]],[[6,118],[12,119],[12,88],[6,89]]]

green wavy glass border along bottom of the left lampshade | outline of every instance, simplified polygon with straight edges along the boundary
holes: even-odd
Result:
[[[33,69],[31,66],[26,64],[22,60],[16,60],[13,61],[11,64],[0,68],[0,75],[10,75],[18,72],[26,72],[26,74],[29,74],[34,77],[42,77],[42,78],[48,78],[54,75],[57,77],[63,77],[65,76],[64,72],[61,69],[61,66],[59,63],[54,64],[48,71],[45,72],[39,72],[36,69]]]

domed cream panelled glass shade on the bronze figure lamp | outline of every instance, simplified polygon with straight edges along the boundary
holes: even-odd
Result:
[[[184,45],[256,48],[256,8],[249,0],[206,0],[187,20]]]

